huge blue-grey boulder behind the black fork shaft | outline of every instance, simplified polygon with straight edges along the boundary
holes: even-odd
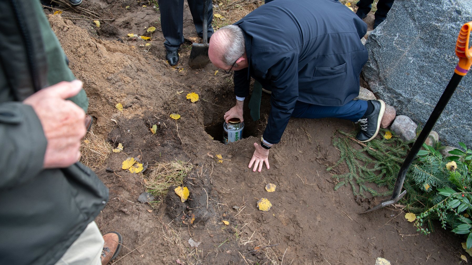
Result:
[[[425,124],[457,65],[455,43],[465,17],[472,17],[470,0],[396,0],[366,43],[362,75],[371,91],[397,114]],[[472,119],[464,116],[471,87],[465,76],[435,126],[449,145],[472,146]]]

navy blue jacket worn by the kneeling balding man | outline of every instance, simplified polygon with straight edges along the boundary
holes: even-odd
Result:
[[[250,77],[270,97],[264,140],[278,143],[297,100],[342,106],[359,94],[367,62],[360,39],[367,25],[335,0],[276,0],[234,25],[244,32],[249,67],[235,71],[235,94],[249,95]]]

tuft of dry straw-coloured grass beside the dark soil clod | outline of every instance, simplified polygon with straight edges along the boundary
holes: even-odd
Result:
[[[148,175],[142,176],[146,191],[156,197],[166,196],[170,186],[180,185],[193,165],[185,161],[171,161],[152,166]]]

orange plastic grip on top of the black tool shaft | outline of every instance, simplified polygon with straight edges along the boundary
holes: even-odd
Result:
[[[472,65],[472,47],[469,48],[469,36],[472,29],[472,21],[465,23],[461,27],[461,32],[455,44],[455,55],[459,57],[459,63],[454,72],[457,75],[466,75]]]

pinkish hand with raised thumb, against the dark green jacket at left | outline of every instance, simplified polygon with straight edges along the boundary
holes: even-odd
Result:
[[[82,90],[82,82],[60,82],[26,98],[41,121],[48,141],[44,168],[71,166],[80,158],[80,141],[84,137],[85,112],[70,100]]]

